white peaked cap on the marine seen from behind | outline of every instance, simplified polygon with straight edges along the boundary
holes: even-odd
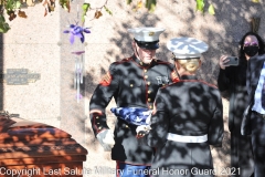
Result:
[[[167,42],[167,48],[173,52],[176,59],[200,58],[208,51],[208,44],[194,38],[180,37]]]

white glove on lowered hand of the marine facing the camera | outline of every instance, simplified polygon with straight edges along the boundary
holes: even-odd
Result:
[[[114,147],[115,140],[114,140],[114,134],[110,129],[106,129],[98,133],[96,137],[105,152],[112,150],[112,148]]]

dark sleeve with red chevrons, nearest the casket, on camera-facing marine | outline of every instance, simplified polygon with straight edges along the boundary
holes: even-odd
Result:
[[[95,136],[103,129],[108,129],[105,110],[118,90],[118,74],[115,63],[109,66],[100,83],[94,91],[89,102],[89,117]]]

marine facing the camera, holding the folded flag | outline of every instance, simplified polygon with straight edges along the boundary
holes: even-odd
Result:
[[[112,150],[118,177],[148,177],[153,150],[136,138],[136,127],[145,124],[159,87],[178,81],[173,64],[155,59],[162,28],[134,28],[134,54],[110,64],[89,102],[92,128],[105,150]],[[114,134],[107,125],[106,107],[114,97],[117,116]]]

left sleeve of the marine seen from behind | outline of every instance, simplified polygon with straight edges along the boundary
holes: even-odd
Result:
[[[161,88],[160,88],[161,90]],[[147,135],[147,144],[151,147],[162,146],[167,140],[169,119],[166,102],[158,91],[151,116],[151,131]]]

